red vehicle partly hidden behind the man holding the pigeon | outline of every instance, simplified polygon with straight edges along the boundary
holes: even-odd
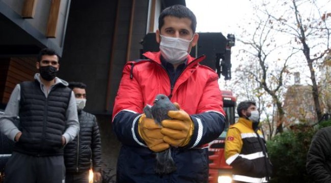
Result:
[[[232,167],[227,165],[224,157],[224,146],[230,125],[235,123],[236,98],[231,91],[222,90],[223,106],[226,112],[225,129],[220,136],[209,143],[209,183],[231,183]]]

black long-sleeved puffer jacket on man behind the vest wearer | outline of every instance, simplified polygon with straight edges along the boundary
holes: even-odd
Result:
[[[79,135],[64,149],[67,172],[82,172],[90,169],[101,172],[101,139],[95,115],[78,111]],[[79,139],[79,140],[78,140]]]

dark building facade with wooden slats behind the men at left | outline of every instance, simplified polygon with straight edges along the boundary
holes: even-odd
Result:
[[[104,168],[114,176],[120,143],[111,119],[122,69],[140,58],[144,36],[174,4],[185,1],[0,0],[0,109],[17,83],[33,80],[38,52],[55,49],[58,76],[88,86],[86,110],[98,118]]]

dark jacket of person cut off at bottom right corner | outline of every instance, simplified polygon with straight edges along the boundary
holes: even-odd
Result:
[[[313,137],[306,168],[315,182],[331,182],[331,127],[320,129]]]

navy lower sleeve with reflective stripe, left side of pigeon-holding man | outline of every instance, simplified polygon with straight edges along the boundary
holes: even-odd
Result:
[[[139,135],[138,123],[141,114],[128,111],[119,112],[113,120],[113,130],[124,145],[146,146]]]

